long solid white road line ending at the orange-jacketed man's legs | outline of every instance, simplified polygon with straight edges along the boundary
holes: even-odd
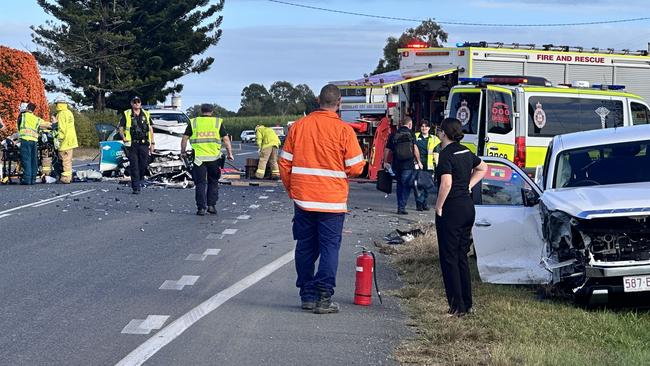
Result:
[[[136,349],[131,351],[126,357],[120,360],[116,366],[138,366],[142,365],[149,358],[155,355],[163,347],[171,343],[178,336],[183,334],[189,327],[201,320],[204,316],[216,310],[226,301],[240,294],[242,291],[253,286],[259,281],[271,275],[279,268],[293,260],[293,250],[282,257],[274,260],[256,272],[248,275],[244,279],[228,287],[227,289],[215,294],[208,300],[204,301],[188,313],[174,320],[171,324],[156,333],[155,337],[149,338]]]

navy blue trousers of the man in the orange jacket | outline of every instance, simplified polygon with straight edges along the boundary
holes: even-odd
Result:
[[[302,301],[316,301],[334,294],[344,220],[345,213],[305,211],[295,206],[296,287],[300,289]],[[314,274],[318,259],[318,271]]]

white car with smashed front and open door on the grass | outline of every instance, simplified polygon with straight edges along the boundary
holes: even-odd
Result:
[[[483,157],[472,230],[481,280],[590,303],[650,291],[650,125],[556,136],[535,181]]]

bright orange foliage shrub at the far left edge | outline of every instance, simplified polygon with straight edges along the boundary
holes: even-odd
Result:
[[[0,46],[0,116],[5,128],[0,137],[16,132],[21,102],[36,104],[37,116],[49,120],[45,86],[31,53]]]

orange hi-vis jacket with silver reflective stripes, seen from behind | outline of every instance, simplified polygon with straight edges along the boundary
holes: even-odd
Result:
[[[366,164],[352,127],[331,111],[318,110],[291,126],[280,152],[280,176],[301,209],[346,212],[348,177]]]

